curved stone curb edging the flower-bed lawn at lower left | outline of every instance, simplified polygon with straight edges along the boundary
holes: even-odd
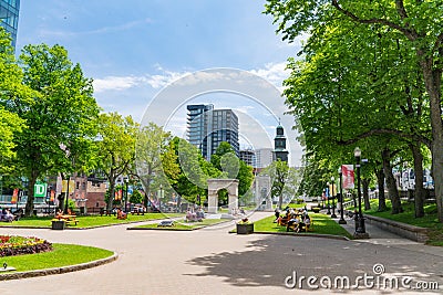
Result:
[[[119,254],[116,252],[114,252],[114,254],[110,257],[91,261],[91,262],[85,262],[85,263],[81,263],[81,264],[75,264],[75,265],[45,268],[45,270],[37,270],[37,271],[30,271],[30,272],[0,274],[0,281],[21,280],[21,278],[35,277],[35,276],[71,273],[71,272],[87,270],[87,268],[100,266],[100,265],[103,265],[106,263],[111,263],[111,262],[115,261],[117,257],[119,257]]]

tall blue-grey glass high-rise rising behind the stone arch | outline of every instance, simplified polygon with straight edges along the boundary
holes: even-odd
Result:
[[[207,160],[222,141],[230,144],[239,156],[238,117],[231,109],[214,109],[213,105],[188,105],[187,137]]]

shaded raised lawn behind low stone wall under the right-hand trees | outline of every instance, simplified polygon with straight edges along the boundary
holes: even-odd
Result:
[[[387,200],[388,211],[378,212],[379,200],[371,200],[371,209],[364,211],[364,214],[385,218],[389,220],[394,220],[411,225],[416,225],[421,228],[427,228],[430,230],[430,240],[426,244],[443,246],[443,224],[439,222],[436,217],[436,204],[425,204],[423,218],[415,218],[414,215],[414,203],[403,202],[402,208],[404,212],[399,214],[391,214],[391,202]]]

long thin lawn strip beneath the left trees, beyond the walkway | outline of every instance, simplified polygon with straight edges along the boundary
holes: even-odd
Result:
[[[111,217],[101,217],[101,215],[86,215],[86,217],[76,217],[79,223],[76,225],[69,225],[69,228],[94,228],[101,225],[110,225],[110,224],[120,224],[120,223],[128,223],[136,221],[146,221],[146,220],[155,220],[155,219],[165,219],[165,218],[174,218],[182,217],[183,213],[145,213],[144,215],[132,215],[128,214],[127,219],[120,220],[114,215]],[[51,220],[53,217],[33,217],[33,218],[21,218],[19,221],[1,222],[0,226],[35,226],[35,228],[51,228]]]

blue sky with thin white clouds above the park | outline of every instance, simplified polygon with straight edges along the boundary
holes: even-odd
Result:
[[[23,0],[17,51],[25,44],[63,45],[85,76],[94,80],[94,95],[105,112],[141,120],[169,83],[207,69],[248,71],[281,91],[289,74],[285,62],[296,56],[299,44],[287,44],[276,35],[272,18],[261,13],[264,4],[257,0]],[[205,103],[202,97],[189,103]],[[268,146],[278,117],[295,141],[288,130],[293,119],[282,114],[284,98],[266,102],[276,109],[269,116],[251,101],[206,97],[216,108],[245,112],[264,126],[268,143],[254,148]],[[175,116],[177,122],[185,119],[183,109]],[[240,133],[248,127],[244,124],[240,120]],[[183,131],[184,125],[177,135]],[[299,154],[299,148],[292,154]]]

